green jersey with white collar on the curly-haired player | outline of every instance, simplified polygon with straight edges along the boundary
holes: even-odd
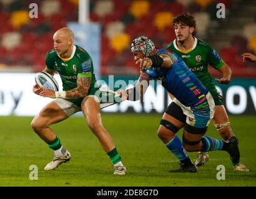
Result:
[[[195,38],[192,49],[184,51],[177,47],[176,39],[170,42],[166,47],[182,58],[187,67],[195,73],[195,76],[203,83],[203,85],[210,91],[214,98],[215,105],[222,105],[222,96],[217,92],[214,85],[214,80],[208,72],[208,63],[215,69],[219,69],[224,65],[224,61],[219,54],[206,44],[204,41]]]

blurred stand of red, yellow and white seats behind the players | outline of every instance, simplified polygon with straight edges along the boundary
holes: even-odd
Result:
[[[29,18],[29,4],[38,18]],[[225,19],[217,19],[217,4],[225,4]],[[90,21],[101,24],[101,75],[137,75],[130,42],[150,37],[164,47],[175,39],[172,18],[190,12],[197,35],[219,52],[233,76],[256,76],[255,63],[240,55],[256,53],[256,1],[249,0],[92,0]],[[53,48],[52,35],[78,21],[78,0],[0,0],[0,71],[21,68],[38,72]],[[215,75],[214,70],[211,72]]]

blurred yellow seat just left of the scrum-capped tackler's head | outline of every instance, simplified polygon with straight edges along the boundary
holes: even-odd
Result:
[[[111,39],[111,47],[121,53],[130,45],[130,36],[128,34],[117,34]]]

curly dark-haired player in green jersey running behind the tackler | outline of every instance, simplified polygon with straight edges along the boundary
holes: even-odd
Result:
[[[193,16],[190,16],[189,13],[180,14],[172,19],[172,24],[174,25],[176,39],[170,42],[167,49],[181,57],[187,64],[187,67],[195,73],[195,76],[199,78],[212,94],[215,103],[215,114],[212,121],[220,136],[227,141],[230,137],[235,135],[230,127],[229,117],[227,116],[222,96],[217,91],[214,80],[208,72],[208,64],[222,73],[222,78],[215,79],[220,84],[227,85],[230,83],[232,71],[210,45],[195,37],[196,21]],[[173,96],[171,97],[173,98]],[[209,154],[199,152],[195,165],[204,165],[208,159]],[[240,159],[231,159],[231,162],[235,170],[249,171],[249,169],[240,162]]]

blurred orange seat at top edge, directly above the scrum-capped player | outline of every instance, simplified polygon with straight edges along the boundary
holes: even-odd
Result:
[[[130,13],[132,13],[136,19],[149,14],[150,3],[146,0],[132,1],[130,3]]]

